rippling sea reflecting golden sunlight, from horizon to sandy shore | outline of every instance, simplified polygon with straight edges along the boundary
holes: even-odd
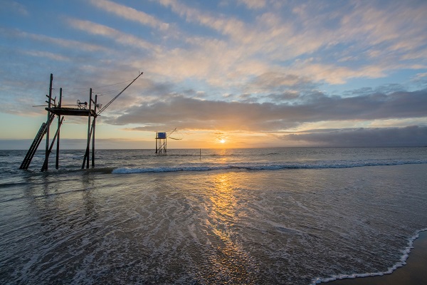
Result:
[[[0,150],[0,284],[323,284],[427,230],[427,147]]]

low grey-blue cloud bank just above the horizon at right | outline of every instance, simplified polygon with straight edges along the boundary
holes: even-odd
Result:
[[[283,135],[280,138],[286,141],[319,146],[427,146],[427,126],[324,130],[307,134]]]

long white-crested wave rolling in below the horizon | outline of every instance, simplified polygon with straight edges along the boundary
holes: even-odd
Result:
[[[290,162],[290,163],[236,163],[232,165],[176,165],[156,167],[117,167],[112,170],[115,174],[132,174],[145,172],[181,172],[181,171],[211,171],[211,170],[285,170],[285,169],[324,169],[350,168],[364,166],[387,166],[426,164],[425,160],[395,160],[395,161],[339,161],[339,162]]]

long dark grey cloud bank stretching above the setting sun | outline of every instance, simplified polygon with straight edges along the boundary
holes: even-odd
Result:
[[[149,123],[173,125],[180,130],[245,130],[280,132],[304,123],[328,120],[384,120],[426,118],[427,90],[369,93],[348,98],[323,93],[301,95],[289,103],[250,103],[199,100],[173,95],[162,102],[146,102],[107,119],[115,125]]]

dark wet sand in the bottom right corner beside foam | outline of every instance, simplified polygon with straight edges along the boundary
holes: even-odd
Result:
[[[412,285],[427,282],[427,232],[413,242],[406,265],[392,274],[327,282],[328,285]]]

